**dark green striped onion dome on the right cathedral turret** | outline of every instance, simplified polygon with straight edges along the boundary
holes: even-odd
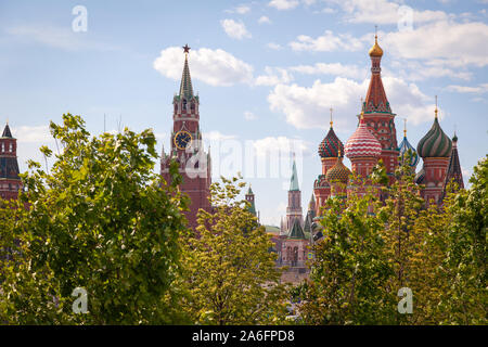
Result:
[[[425,157],[449,157],[451,155],[452,141],[442,131],[439,119],[434,119],[431,130],[423,137],[416,145],[416,152]]]

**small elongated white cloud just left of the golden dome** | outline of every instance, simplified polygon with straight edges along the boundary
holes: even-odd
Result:
[[[355,38],[350,34],[338,34],[336,36],[331,30],[325,30],[322,36],[317,38],[300,35],[295,41],[290,42],[288,46],[294,51],[358,51],[363,48],[363,42],[361,39]]]

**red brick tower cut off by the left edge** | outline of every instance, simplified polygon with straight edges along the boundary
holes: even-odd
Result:
[[[7,124],[0,138],[0,198],[17,198],[21,189],[17,140],[12,137],[9,124]]]

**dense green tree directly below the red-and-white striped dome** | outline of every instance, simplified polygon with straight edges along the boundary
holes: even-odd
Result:
[[[369,213],[370,193],[346,202],[329,198],[322,213],[323,239],[314,245],[310,283],[300,306],[307,324],[395,322],[395,294],[386,284],[394,269],[382,239],[383,224]]]

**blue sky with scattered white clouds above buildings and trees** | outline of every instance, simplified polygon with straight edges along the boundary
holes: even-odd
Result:
[[[76,5],[88,11],[87,31],[72,28]],[[103,131],[104,114],[106,130],[116,130],[118,119],[133,130],[153,128],[168,149],[188,43],[207,142],[251,143],[257,156],[297,144],[305,214],[321,171],[317,146],[329,108],[344,143],[356,127],[377,25],[398,142],[407,118],[416,146],[437,94],[442,129],[449,136],[457,129],[467,182],[488,147],[487,7],[481,0],[0,0],[0,123],[9,119],[18,139],[24,170],[28,158],[41,160],[41,144],[53,146],[47,126],[66,112],[82,115],[93,134]],[[211,149],[221,158],[216,175],[239,169],[222,168],[235,153]],[[286,169],[274,177],[241,167],[267,223],[285,215],[290,170],[281,165]]]

